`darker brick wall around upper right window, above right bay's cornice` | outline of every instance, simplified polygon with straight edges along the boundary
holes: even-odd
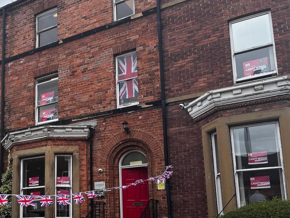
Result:
[[[278,74],[288,74],[289,6],[270,0],[186,1],[163,10],[166,96],[233,85],[228,20],[265,9],[271,9]]]

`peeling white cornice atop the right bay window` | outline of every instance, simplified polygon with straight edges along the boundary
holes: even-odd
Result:
[[[195,119],[215,107],[289,94],[290,77],[283,76],[209,91],[184,109]]]

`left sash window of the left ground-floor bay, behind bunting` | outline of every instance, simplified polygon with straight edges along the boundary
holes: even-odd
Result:
[[[37,196],[44,195],[44,172],[45,159],[44,156],[31,157],[21,160],[20,174],[20,194],[32,195],[35,206],[20,207],[20,217],[41,217],[44,218],[44,207],[40,206]]]

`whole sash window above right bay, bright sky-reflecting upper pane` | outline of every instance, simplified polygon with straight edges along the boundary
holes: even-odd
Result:
[[[235,82],[277,74],[270,12],[230,22],[230,41]]]

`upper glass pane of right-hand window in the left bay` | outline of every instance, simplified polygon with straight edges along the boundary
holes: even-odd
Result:
[[[56,156],[56,185],[70,185],[70,156]]]

